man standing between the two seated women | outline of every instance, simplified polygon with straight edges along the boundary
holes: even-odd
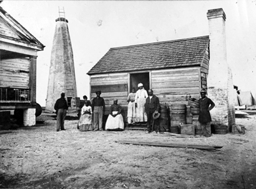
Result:
[[[105,101],[101,98],[101,91],[96,92],[96,98],[92,99],[92,112],[94,116],[94,131],[102,131],[102,119],[105,113]]]

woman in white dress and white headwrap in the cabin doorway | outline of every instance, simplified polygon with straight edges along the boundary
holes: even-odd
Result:
[[[145,113],[145,99],[149,96],[147,91],[144,90],[143,84],[138,84],[139,90],[135,95],[136,119],[137,122],[146,122],[147,114]]]

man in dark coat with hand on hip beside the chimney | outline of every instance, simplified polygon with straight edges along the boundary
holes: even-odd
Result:
[[[199,99],[199,118],[200,126],[202,128],[202,135],[205,137],[212,136],[210,131],[210,122],[212,118],[210,117],[210,110],[212,110],[215,106],[214,102],[207,98],[206,90],[202,89],[200,92],[201,98]]]

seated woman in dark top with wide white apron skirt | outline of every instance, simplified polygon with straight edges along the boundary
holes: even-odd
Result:
[[[111,105],[111,113],[106,121],[105,130],[124,130],[124,119],[121,115],[122,108],[117,104],[117,99],[114,99],[114,104]]]

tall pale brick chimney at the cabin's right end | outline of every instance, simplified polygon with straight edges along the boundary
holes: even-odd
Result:
[[[229,126],[235,123],[234,86],[232,71],[227,63],[225,38],[226,15],[223,9],[207,12],[210,36],[209,75],[207,78],[208,96],[215,103],[210,112],[212,123]]]

